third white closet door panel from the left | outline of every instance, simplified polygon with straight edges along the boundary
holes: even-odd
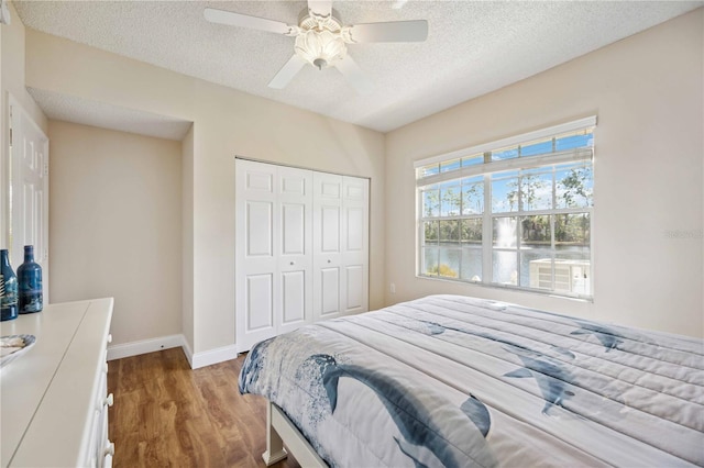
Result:
[[[314,321],[342,314],[342,176],[314,172]]]

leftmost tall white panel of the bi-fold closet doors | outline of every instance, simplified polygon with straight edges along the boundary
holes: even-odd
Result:
[[[276,335],[276,166],[238,159],[235,178],[235,335],[244,352]]]

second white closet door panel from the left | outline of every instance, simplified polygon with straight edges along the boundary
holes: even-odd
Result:
[[[277,334],[312,322],[312,172],[278,168]]]

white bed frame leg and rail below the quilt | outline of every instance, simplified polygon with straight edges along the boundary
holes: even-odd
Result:
[[[262,458],[268,467],[286,458],[288,453],[301,467],[328,467],[282,409],[267,400],[266,452],[262,454]]]

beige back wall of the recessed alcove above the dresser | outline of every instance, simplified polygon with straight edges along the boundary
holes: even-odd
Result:
[[[182,144],[50,121],[52,302],[114,297],[114,343],[182,333]]]

